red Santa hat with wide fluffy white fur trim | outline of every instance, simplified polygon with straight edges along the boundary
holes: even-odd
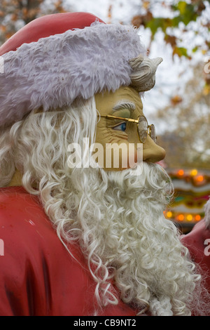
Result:
[[[0,127],[40,107],[129,86],[130,60],[143,53],[134,27],[105,24],[90,13],[37,18],[0,47]]]

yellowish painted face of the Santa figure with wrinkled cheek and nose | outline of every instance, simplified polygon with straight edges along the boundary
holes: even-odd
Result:
[[[157,145],[151,136],[145,143],[139,139],[135,122],[107,118],[107,115],[128,119],[144,116],[139,93],[132,87],[122,86],[115,93],[105,92],[95,95],[96,107],[102,117],[98,117],[96,144],[103,146],[103,161],[99,165],[106,171],[121,171],[137,162],[137,151],[144,161],[157,162],[165,157],[165,150]],[[122,146],[122,147],[119,147]],[[111,150],[110,150],[111,149]],[[143,154],[140,150],[143,149]]]

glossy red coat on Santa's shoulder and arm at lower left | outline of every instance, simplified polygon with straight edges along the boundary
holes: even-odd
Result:
[[[0,188],[0,239],[1,316],[94,314],[95,283],[82,253],[71,246],[79,264],[52,229],[38,197],[23,187]],[[99,312],[135,314],[122,301]]]

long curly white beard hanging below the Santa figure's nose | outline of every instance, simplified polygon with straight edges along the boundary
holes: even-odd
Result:
[[[143,164],[139,176],[132,171],[75,169],[66,199],[71,222],[57,221],[59,236],[79,241],[99,305],[118,303],[113,280],[120,298],[139,314],[149,308],[152,315],[191,315],[196,297],[201,314],[195,294],[200,275],[163,214],[172,183],[157,164]]]

